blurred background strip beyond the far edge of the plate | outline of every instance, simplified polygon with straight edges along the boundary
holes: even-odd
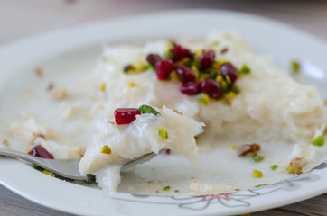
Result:
[[[327,41],[326,0],[0,0],[0,44],[127,14],[210,8],[258,14]]]

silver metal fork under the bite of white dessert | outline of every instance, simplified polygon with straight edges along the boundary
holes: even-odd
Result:
[[[124,172],[127,169],[136,166],[138,164],[145,163],[148,160],[162,154],[166,149],[162,149],[158,154],[154,152],[145,154],[144,156],[137,157],[134,160],[127,162],[121,167],[120,171]],[[34,157],[32,155],[13,150],[11,148],[0,148],[0,156],[14,157],[33,163],[34,165],[40,166],[46,170],[51,171],[54,174],[60,175],[61,177],[73,179],[73,180],[85,180],[85,175],[79,174],[79,159],[76,160],[65,160],[65,159],[47,159],[42,157]]]

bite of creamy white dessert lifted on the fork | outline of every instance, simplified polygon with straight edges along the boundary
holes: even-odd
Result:
[[[84,175],[95,173],[102,188],[116,191],[120,183],[120,167],[147,153],[171,149],[182,153],[193,165],[199,165],[194,136],[201,133],[204,124],[164,106],[156,110],[160,115],[136,115],[135,121],[129,124],[98,121],[99,132],[91,139],[80,161],[79,171]],[[159,135],[160,129],[166,131],[166,137]],[[101,153],[105,145],[110,148],[110,154]]]

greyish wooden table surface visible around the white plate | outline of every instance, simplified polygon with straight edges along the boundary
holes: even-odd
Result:
[[[327,1],[324,0],[1,0],[0,46],[44,31],[70,27],[125,14],[150,11],[210,8],[258,14],[293,25],[327,41]],[[0,185],[0,215],[62,215],[30,202]],[[327,193],[252,215],[327,215]]]

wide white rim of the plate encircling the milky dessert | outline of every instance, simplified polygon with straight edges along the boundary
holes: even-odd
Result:
[[[260,53],[272,53],[281,59],[305,59],[327,71],[326,44],[303,31],[248,14],[187,10],[93,23],[6,45],[0,49],[0,90],[15,71],[42,64],[46,58],[55,58],[59,63],[64,58],[61,55],[72,50],[92,47],[90,50],[97,52],[99,44],[107,41],[203,36],[210,29],[239,31]],[[79,53],[76,58],[88,57],[87,53]],[[281,65],[285,63],[283,60],[279,62]],[[303,81],[317,85],[321,93],[327,90],[323,85],[326,82],[323,72],[307,74]],[[43,175],[30,166],[8,158],[0,159],[0,181],[33,202],[79,215],[230,215],[275,208],[326,193],[326,167],[324,164],[309,175],[254,190],[190,197],[128,193],[108,195],[95,188]]]

